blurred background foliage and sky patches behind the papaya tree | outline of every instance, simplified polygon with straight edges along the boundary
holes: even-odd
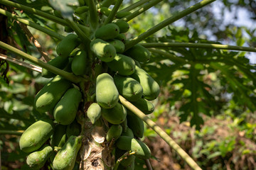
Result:
[[[47,7],[48,1],[16,1],[53,13]],[[124,6],[134,2],[124,0]],[[134,38],[197,2],[161,1],[129,21],[130,30],[126,36]],[[250,25],[256,21],[255,9],[256,2],[253,0],[215,1],[144,42],[226,43],[256,47],[256,25]],[[66,34],[63,26],[56,23],[18,9],[8,7],[8,10]],[[241,25],[241,18],[249,24]],[[1,18],[2,21],[5,19]],[[11,28],[6,32],[9,44],[40,58],[36,47],[18,23],[11,19],[7,21],[7,27]],[[50,57],[55,57],[58,40],[29,29],[43,50]],[[150,115],[151,119],[164,128],[203,169],[255,169],[255,53],[184,47],[149,50],[152,52],[151,60],[142,67],[161,85],[161,95],[154,101],[156,109]],[[28,169],[24,163],[26,154],[18,148],[18,132],[42,116],[33,110],[33,98],[49,79],[11,62],[6,64],[1,61],[1,74],[6,69],[9,84],[4,77],[0,77],[0,130],[14,130],[12,132],[16,133],[0,136],[1,168]],[[146,129],[145,136],[144,140],[153,155],[153,169],[189,169],[153,130]],[[137,169],[144,169],[143,164],[138,162]]]

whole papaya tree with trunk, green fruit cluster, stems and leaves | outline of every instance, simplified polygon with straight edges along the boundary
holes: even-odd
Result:
[[[218,106],[209,92],[213,86],[202,79],[206,72],[218,71],[230,84],[228,91],[242,98],[240,104],[255,111],[255,67],[245,52],[256,49],[222,45],[171,27],[164,36],[155,33],[214,1],[193,4],[133,35],[132,21],[161,0],[0,0],[1,64],[8,66],[8,60],[27,67],[39,73],[30,72],[32,80],[43,81],[32,92],[31,116],[1,110],[3,118],[23,121],[23,131],[6,128],[1,134],[21,135],[18,147],[31,169],[137,169],[142,161],[151,169],[152,155],[142,141],[146,123],[192,169],[201,169],[151,120],[152,102],[170,81],[182,84],[167,102],[182,100],[181,120],[189,119],[199,129],[200,114],[209,115]],[[37,31],[50,44],[38,43]],[[172,77],[176,71],[181,71],[180,79]]]

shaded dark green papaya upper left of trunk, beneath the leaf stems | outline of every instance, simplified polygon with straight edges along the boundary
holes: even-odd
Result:
[[[73,57],[71,64],[72,72],[77,76],[86,74],[87,71],[87,54],[84,50],[81,50]]]

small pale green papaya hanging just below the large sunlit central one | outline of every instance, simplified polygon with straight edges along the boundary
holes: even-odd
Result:
[[[90,119],[92,124],[100,118],[101,108],[98,103],[92,103],[87,110],[87,117]]]

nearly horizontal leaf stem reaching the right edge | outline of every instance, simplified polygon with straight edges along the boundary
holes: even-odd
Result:
[[[247,52],[256,52],[256,47],[240,47],[235,45],[220,45],[207,43],[191,43],[191,42],[149,42],[140,43],[144,47],[195,47],[195,48],[214,48],[222,50],[238,50]]]

